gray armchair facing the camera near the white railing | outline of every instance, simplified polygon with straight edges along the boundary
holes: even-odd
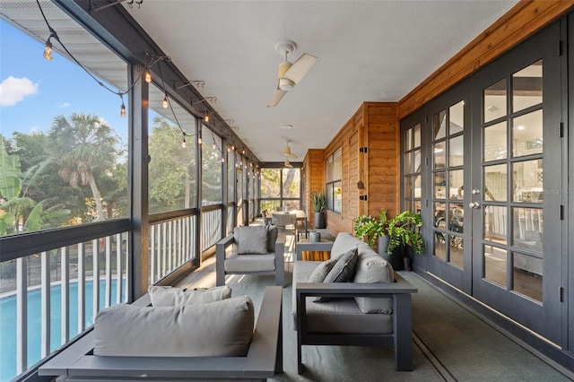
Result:
[[[275,275],[275,285],[284,286],[284,241],[273,225],[235,227],[215,244],[215,284],[224,285],[227,274],[269,273]]]

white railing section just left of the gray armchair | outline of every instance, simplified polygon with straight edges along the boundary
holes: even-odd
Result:
[[[197,216],[150,225],[150,285],[196,258]]]

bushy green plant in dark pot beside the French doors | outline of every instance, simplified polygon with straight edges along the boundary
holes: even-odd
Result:
[[[387,212],[382,211],[378,217],[361,215],[354,220],[353,230],[359,239],[367,239],[370,247],[378,240],[378,254],[383,256],[395,270],[405,268],[410,271],[409,256],[403,250],[412,247],[415,254],[424,252],[421,232],[422,218],[420,213],[404,211],[394,218],[387,219]]]

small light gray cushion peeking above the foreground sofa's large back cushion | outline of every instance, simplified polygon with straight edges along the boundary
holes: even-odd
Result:
[[[210,289],[181,289],[153,285],[148,288],[148,293],[150,293],[153,307],[181,307],[231,297],[231,289],[226,285]]]

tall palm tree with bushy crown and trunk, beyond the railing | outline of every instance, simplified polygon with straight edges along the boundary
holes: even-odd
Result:
[[[94,173],[103,173],[116,162],[117,138],[106,121],[92,114],[57,116],[49,132],[59,175],[72,187],[90,185],[98,219],[105,220]]]

